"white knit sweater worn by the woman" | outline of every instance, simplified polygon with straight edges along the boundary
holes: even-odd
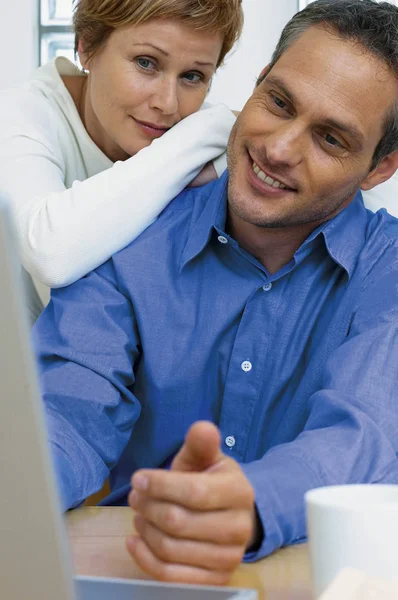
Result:
[[[235,121],[224,105],[205,107],[113,164],[61,79],[78,74],[57,58],[0,93],[0,195],[13,208],[24,267],[49,287],[72,283],[137,237],[222,155]],[[215,166],[222,172],[225,158]]]

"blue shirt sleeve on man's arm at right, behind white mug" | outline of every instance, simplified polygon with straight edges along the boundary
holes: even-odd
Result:
[[[359,293],[346,341],[332,353],[294,441],[243,465],[264,538],[247,561],[306,537],[304,494],[353,483],[398,483],[397,265]]]

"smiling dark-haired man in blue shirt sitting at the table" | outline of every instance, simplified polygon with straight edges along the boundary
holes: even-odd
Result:
[[[157,578],[224,583],[305,538],[308,489],[398,483],[398,221],[359,191],[398,166],[397,32],[390,4],[310,4],[237,120],[229,178],[39,319],[64,506],[109,473],[123,502],[134,473],[127,545]]]

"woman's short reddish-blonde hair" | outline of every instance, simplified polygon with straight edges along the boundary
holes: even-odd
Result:
[[[75,0],[75,51],[79,40],[93,56],[115,29],[152,19],[175,19],[194,29],[220,32],[223,46],[219,66],[243,27],[242,0]]]

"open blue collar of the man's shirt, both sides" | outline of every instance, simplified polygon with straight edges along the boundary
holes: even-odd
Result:
[[[181,267],[195,258],[207,246],[214,229],[225,231],[227,217],[228,171],[210,190],[206,205],[196,221],[181,257]],[[295,254],[296,262],[308,254],[309,245],[323,235],[326,250],[350,278],[365,243],[367,211],[358,190],[350,204],[336,217],[315,229]],[[318,241],[318,240],[317,240]]]

